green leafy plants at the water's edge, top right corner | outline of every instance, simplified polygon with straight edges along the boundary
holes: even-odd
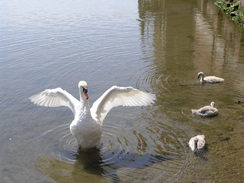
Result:
[[[215,4],[234,22],[244,28],[244,1],[217,0]]]

